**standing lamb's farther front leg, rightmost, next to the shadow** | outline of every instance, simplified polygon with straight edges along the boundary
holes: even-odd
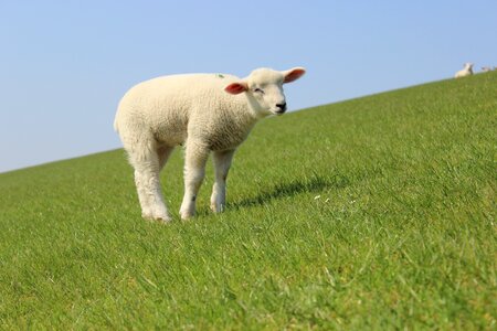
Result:
[[[234,150],[214,152],[215,182],[211,195],[211,210],[214,213],[221,213],[226,204],[226,178],[233,154]]]

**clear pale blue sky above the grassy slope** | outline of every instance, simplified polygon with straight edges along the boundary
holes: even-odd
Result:
[[[305,66],[290,110],[497,65],[496,0],[0,0],[0,172],[120,147],[123,94]]]

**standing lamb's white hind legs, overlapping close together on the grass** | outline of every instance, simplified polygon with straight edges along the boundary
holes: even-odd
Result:
[[[171,150],[167,154],[159,156],[156,148],[146,146],[129,152],[131,164],[135,168],[135,183],[144,218],[171,221],[163,202],[159,179],[160,168]]]

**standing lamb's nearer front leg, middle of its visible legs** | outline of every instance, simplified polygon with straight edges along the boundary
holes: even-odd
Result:
[[[197,194],[205,175],[208,157],[208,148],[194,141],[187,141],[184,154],[184,195],[180,209],[182,220],[190,218],[195,214]]]

